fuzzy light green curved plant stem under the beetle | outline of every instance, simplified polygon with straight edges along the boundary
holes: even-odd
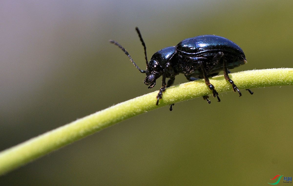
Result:
[[[293,68],[251,70],[229,76],[239,89],[293,84]],[[210,78],[210,82],[219,93],[232,91],[223,76]],[[172,103],[210,95],[211,91],[203,80],[179,84],[166,89],[158,106],[157,93],[119,103],[0,152],[0,175],[120,121]]]

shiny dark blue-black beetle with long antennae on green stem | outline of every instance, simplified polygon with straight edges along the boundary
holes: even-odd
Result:
[[[237,91],[239,97],[242,95],[239,88],[228,75],[230,73],[228,69],[247,63],[243,50],[234,42],[216,35],[202,35],[187,38],[176,46],[169,46],[157,51],[148,62],[146,45],[142,39],[142,35],[137,27],[135,30],[144,47],[144,57],[147,63],[146,70],[141,70],[136,63],[134,63],[125,48],[119,43],[114,40],[110,40],[110,43],[121,48],[134,66],[141,73],[146,74],[144,84],[148,85],[148,88],[153,88],[156,85],[156,79],[163,76],[162,87],[157,95],[156,105],[159,105],[159,100],[162,98],[163,92],[174,83],[175,76],[179,73],[184,74],[188,81],[195,81],[203,78],[208,88],[212,91],[213,97],[217,96],[218,102],[220,102],[219,93],[209,82],[209,77],[216,76],[223,70],[224,77],[226,81],[231,84],[233,91]],[[166,78],[170,78],[167,83]],[[250,94],[253,94],[251,90],[246,90],[248,90]],[[211,103],[207,95],[203,96],[203,98],[208,103]],[[171,104],[170,111],[172,110],[172,105],[174,104]]]

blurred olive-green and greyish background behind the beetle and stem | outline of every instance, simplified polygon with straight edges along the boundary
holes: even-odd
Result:
[[[150,58],[202,34],[237,43],[247,65],[293,67],[293,1],[1,1],[0,150],[159,90]],[[183,75],[175,83],[184,83]],[[0,185],[267,185],[293,176],[293,86],[202,98],[128,119],[0,177]],[[154,100],[155,103],[155,100]]]

